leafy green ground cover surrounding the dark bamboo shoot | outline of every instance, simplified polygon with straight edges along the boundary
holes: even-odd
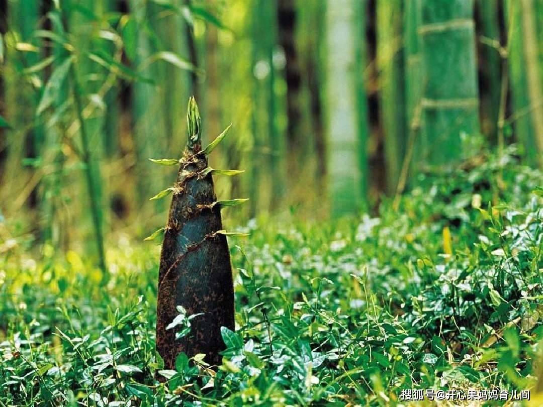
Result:
[[[184,354],[162,369],[159,246],[110,245],[104,284],[78,253],[37,260],[15,239],[0,250],[0,405],[396,405],[419,389],[538,403],[542,185],[487,152],[375,217],[250,221],[229,238],[237,329],[218,369]]]

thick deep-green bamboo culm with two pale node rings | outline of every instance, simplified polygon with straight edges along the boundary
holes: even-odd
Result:
[[[459,158],[460,135],[479,132],[473,26],[473,0],[422,0],[421,163]]]

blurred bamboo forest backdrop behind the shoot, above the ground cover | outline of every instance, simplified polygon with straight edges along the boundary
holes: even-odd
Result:
[[[543,0],[0,0],[0,245],[163,226],[177,168],[148,158],[180,157],[191,95],[204,144],[233,123],[227,226],[371,212],[511,143],[541,166],[542,24]]]

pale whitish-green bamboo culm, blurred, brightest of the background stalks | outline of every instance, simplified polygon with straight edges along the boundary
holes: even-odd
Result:
[[[328,143],[328,189],[333,217],[356,213],[364,206],[361,171],[361,145],[358,120],[356,77],[355,1],[326,2],[326,43],[329,58],[326,66],[325,92],[328,105],[326,133]]]

